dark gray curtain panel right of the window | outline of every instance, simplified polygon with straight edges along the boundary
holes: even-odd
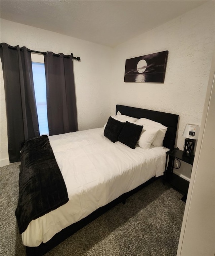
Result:
[[[49,135],[78,131],[73,59],[44,55]]]

